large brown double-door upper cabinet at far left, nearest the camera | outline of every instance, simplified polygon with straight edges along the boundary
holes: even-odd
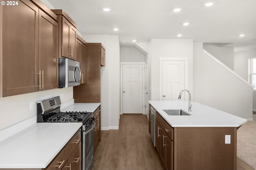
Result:
[[[17,6],[0,6],[1,97],[38,91],[40,83],[42,89],[43,82],[47,84],[45,87],[48,89],[58,84],[58,81],[56,82],[58,24],[54,20],[57,16],[47,9],[38,0],[18,0]],[[45,11],[50,14],[46,14]],[[46,32],[48,28],[52,28],[48,30],[50,32]],[[49,37],[51,39],[48,40]],[[44,59],[40,57],[46,57],[47,63],[41,63]],[[49,71],[45,70],[45,65],[48,66]],[[40,70],[41,74],[39,74]],[[55,73],[52,73],[53,70]],[[54,78],[48,79],[46,77],[48,72],[54,75]]]

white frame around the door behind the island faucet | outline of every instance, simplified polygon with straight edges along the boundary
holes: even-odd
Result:
[[[159,99],[162,99],[162,86],[163,86],[163,79],[162,79],[162,65],[163,61],[185,61],[185,89],[188,89],[188,58],[182,57],[159,57]],[[178,98],[177,98],[178,99]]]

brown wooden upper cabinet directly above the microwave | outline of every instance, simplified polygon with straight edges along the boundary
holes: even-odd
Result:
[[[52,10],[58,16],[59,57],[76,60],[76,23],[62,10]]]

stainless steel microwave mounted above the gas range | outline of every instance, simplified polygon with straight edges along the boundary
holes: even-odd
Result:
[[[68,58],[59,59],[59,87],[80,85],[80,63]]]

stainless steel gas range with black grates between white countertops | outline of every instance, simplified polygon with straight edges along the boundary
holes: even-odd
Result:
[[[82,170],[90,170],[93,164],[94,117],[86,111],[60,111],[60,97],[37,102],[37,122],[81,122],[82,125]]]

